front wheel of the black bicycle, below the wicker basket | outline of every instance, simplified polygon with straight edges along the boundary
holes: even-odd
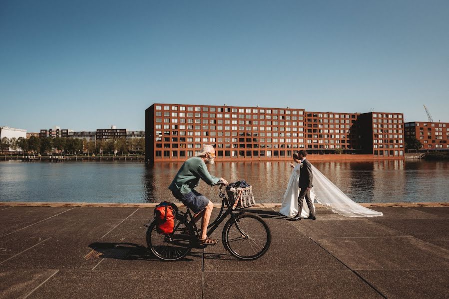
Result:
[[[235,221],[229,219],[223,229],[223,245],[240,260],[260,258],[267,252],[270,244],[270,228],[257,215],[237,215]]]

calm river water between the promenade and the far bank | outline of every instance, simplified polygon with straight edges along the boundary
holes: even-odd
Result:
[[[257,202],[280,202],[290,162],[216,162],[211,174],[245,179]],[[449,162],[313,162],[357,202],[449,201]],[[160,202],[175,200],[167,186],[180,163],[0,162],[0,201]],[[217,188],[198,191],[218,201]]]

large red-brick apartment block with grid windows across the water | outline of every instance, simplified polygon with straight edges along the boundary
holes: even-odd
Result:
[[[215,147],[217,160],[284,160],[300,149],[400,158],[402,119],[397,113],[153,104],[145,112],[146,161],[185,160],[205,144]]]

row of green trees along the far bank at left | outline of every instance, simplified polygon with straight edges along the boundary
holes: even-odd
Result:
[[[14,151],[21,149],[24,152],[46,154],[52,152],[68,154],[130,154],[144,153],[145,139],[135,138],[126,140],[125,138],[105,140],[105,141],[87,141],[76,138],[39,138],[31,136],[30,138],[11,138],[6,137],[0,140],[0,149]]]

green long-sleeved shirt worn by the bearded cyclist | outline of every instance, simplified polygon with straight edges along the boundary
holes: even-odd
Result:
[[[191,157],[182,164],[168,189],[181,196],[199,185],[200,179],[209,185],[218,183],[220,178],[210,175],[206,163],[200,157]]]

